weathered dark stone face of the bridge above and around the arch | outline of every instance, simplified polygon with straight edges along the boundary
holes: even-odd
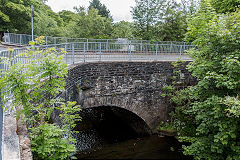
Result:
[[[174,75],[171,63],[75,64],[69,68],[65,95],[68,100],[77,101],[83,109],[111,106],[125,109],[141,118],[149,127],[149,132],[154,133],[160,122],[166,121],[168,113],[172,111],[167,98],[162,96],[165,93],[162,88],[171,84]],[[181,71],[183,85],[191,85],[194,80],[185,67]]]

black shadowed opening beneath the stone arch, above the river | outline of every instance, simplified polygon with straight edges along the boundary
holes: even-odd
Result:
[[[79,113],[74,128],[79,151],[151,134],[146,122],[135,113],[116,106],[92,106]]]

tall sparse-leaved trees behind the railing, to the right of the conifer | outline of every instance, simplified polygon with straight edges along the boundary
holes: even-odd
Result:
[[[132,8],[135,36],[147,40],[183,41],[186,18],[195,12],[195,1],[136,0]]]

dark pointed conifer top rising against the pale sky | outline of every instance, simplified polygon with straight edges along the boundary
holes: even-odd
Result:
[[[110,18],[112,19],[112,16],[110,14],[110,11],[107,9],[105,4],[102,4],[99,0],[92,0],[90,1],[90,5],[88,9],[95,8],[98,10],[98,14],[102,17]]]

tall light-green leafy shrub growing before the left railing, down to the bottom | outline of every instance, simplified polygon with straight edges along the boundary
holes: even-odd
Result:
[[[43,38],[31,44],[44,44]],[[72,129],[75,122],[81,120],[77,114],[80,107],[76,102],[65,104],[58,98],[64,91],[67,76],[67,65],[63,62],[65,53],[63,49],[59,52],[54,48],[32,46],[26,53],[3,59],[8,70],[3,70],[4,77],[0,79],[1,96],[12,95],[4,103],[16,106],[17,118],[25,115],[36,159],[66,159],[76,150]],[[23,57],[28,63],[16,61]],[[55,109],[61,111],[61,127],[51,124],[50,117]]]

